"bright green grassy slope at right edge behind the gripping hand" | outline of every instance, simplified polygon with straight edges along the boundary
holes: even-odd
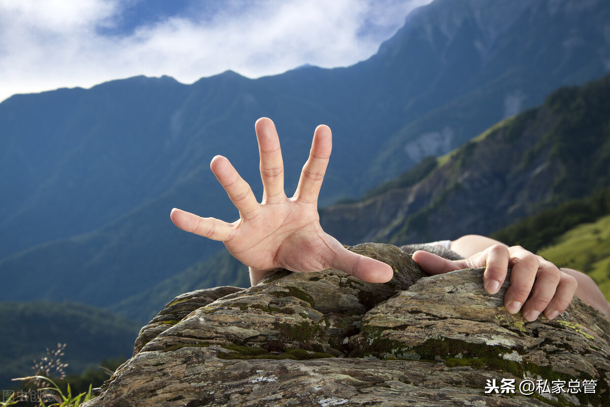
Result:
[[[587,273],[610,301],[610,215],[570,229],[538,254],[559,267]]]

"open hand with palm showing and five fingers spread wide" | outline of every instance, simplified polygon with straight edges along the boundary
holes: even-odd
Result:
[[[273,121],[260,118],[254,127],[264,187],[262,202],[257,202],[250,186],[229,160],[216,156],[210,168],[239,209],[239,220],[227,223],[173,209],[172,222],[187,232],[222,240],[236,259],[250,267],[253,285],[259,283],[265,272],[278,267],[293,272],[337,268],[372,283],[392,279],[392,267],[346,250],[320,226],[318,194],[331,155],[331,129],[324,125],[315,129],[309,159],[296,192],[292,198],[287,198],[284,163]]]

